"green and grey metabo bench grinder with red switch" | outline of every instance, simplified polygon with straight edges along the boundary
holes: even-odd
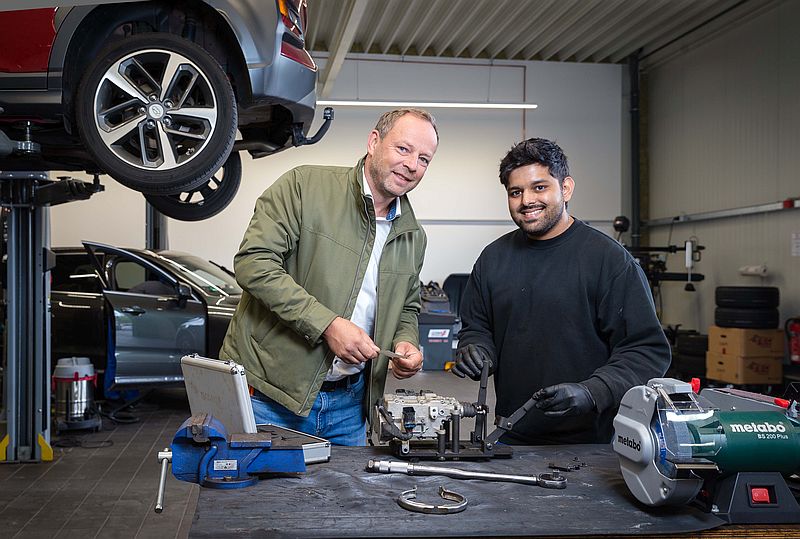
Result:
[[[697,504],[729,523],[800,522],[787,479],[800,472],[797,395],[696,389],[654,378],[622,398],[613,448],[631,493],[650,506]]]

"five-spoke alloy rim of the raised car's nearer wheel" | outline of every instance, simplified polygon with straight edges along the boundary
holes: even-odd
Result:
[[[218,112],[216,93],[197,64],[162,49],[114,62],[94,96],[95,126],[106,148],[150,171],[172,170],[201,154]]]

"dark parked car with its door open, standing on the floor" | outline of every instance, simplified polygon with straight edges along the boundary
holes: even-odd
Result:
[[[89,357],[105,387],[120,389],[179,384],[182,356],[219,356],[242,294],[224,267],[92,242],[53,251],[53,364]]]

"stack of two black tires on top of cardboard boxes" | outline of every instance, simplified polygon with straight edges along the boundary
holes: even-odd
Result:
[[[774,286],[718,286],[714,323],[723,328],[772,329],[780,324]]]

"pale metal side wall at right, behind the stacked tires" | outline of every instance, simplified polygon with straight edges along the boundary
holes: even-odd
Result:
[[[800,2],[775,9],[651,69],[650,218],[739,208],[800,196]],[[706,246],[696,292],[662,285],[662,321],[705,332],[714,289],[781,290],[781,320],[800,315],[800,210],[661,226],[651,245]],[[800,241],[798,239],[797,241]],[[669,271],[684,271],[682,254]],[[766,264],[766,278],[739,268]]]

